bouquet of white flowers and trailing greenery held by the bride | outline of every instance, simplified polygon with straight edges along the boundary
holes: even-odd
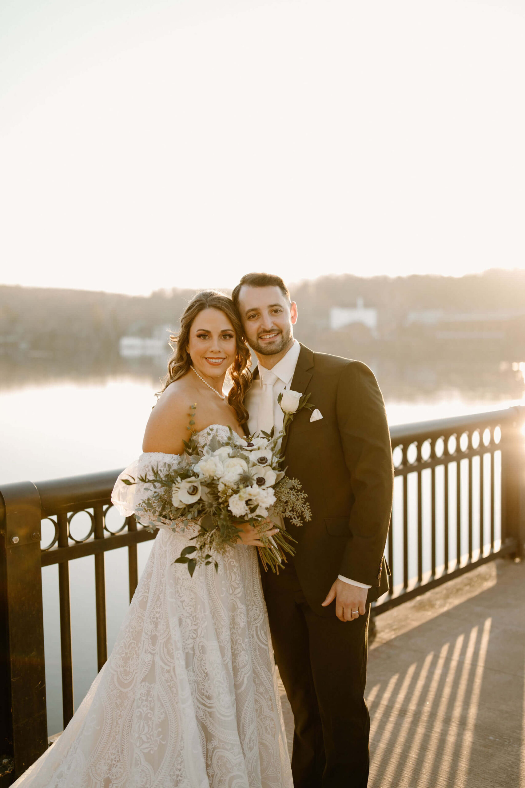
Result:
[[[186,452],[176,457],[169,470],[162,473],[153,468],[150,477],[136,480],[123,479],[124,484],[137,481],[149,485],[149,495],[136,507],[139,522],[155,527],[155,520],[166,525],[176,521],[172,530],[180,531],[190,523],[198,523],[198,534],[192,537],[194,545],[183,549],[176,563],[186,563],[190,575],[202,563],[208,566],[217,562],[216,554],[224,554],[228,546],[238,541],[239,526],[249,522],[261,533],[264,547],[257,548],[264,569],[279,571],[286,561],[286,553],[294,555],[290,542],[294,539],[287,533],[283,518],[287,517],[295,526],[311,519],[306,493],[297,479],[287,477],[281,468],[283,459],[279,453],[279,439],[284,437],[287,425],[301,407],[312,407],[308,396],[298,392],[284,392],[285,414],[283,430],[274,437],[272,433],[261,433],[258,437],[240,438],[230,429],[226,440],[216,435],[209,444],[201,448],[193,432],[196,405],[190,411],[190,439],[184,441]],[[292,408],[293,410],[290,410]],[[211,433],[210,433],[211,434]],[[271,519],[272,522],[269,522]],[[265,536],[269,528],[278,532]]]

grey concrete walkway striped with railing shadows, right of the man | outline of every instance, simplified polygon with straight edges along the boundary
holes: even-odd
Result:
[[[368,788],[525,788],[525,563],[498,559],[376,623]]]

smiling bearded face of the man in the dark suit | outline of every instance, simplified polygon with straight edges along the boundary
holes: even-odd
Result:
[[[243,284],[238,310],[250,348],[261,355],[282,353],[294,339],[297,305],[278,287],[252,288]]]

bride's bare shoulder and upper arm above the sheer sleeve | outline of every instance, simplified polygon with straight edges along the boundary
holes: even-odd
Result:
[[[187,439],[190,407],[197,390],[187,376],[170,383],[151,411],[142,441],[143,452],[181,454]]]

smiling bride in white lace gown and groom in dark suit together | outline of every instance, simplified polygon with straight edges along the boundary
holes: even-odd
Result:
[[[190,403],[205,446],[229,428],[239,440],[272,426],[277,432],[279,395],[309,394],[315,410],[294,414],[281,447],[312,510],[301,528],[287,522],[294,558],[279,574],[263,572],[261,582],[254,549],[261,536],[246,524],[238,545],[217,556],[219,571],[201,566],[190,577],[174,561],[198,526],[159,520],[109,660],[61,738],[16,786],[367,785],[368,617],[388,588],[390,437],[372,372],[298,343],[297,320],[283,280],[267,273],[242,277],[231,299],[195,296],[143,454],[121,474],[162,472],[183,454]],[[119,477],[112,500],[131,515],[149,493]],[[291,768],[274,653],[294,712]]]

